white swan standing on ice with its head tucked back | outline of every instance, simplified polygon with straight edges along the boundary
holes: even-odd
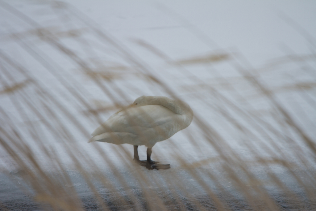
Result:
[[[127,108],[113,114],[91,135],[88,142],[133,144],[134,161],[147,169],[169,169],[170,164],[152,161],[151,148],[190,125],[193,111],[181,100],[161,96],[141,96]],[[147,146],[147,160],[138,157],[138,145]]]

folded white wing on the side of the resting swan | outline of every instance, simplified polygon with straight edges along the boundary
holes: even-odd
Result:
[[[127,132],[139,135],[172,122],[176,116],[177,114],[162,105],[131,107],[112,115],[91,135],[96,136],[106,132]]]

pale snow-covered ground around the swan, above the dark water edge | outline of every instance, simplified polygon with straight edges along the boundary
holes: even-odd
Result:
[[[65,171],[71,182],[56,180],[83,204],[94,195],[83,172],[103,198],[115,189],[146,200],[137,191],[155,189],[190,201],[224,189],[232,196],[220,199],[242,206],[241,185],[281,197],[276,175],[309,204],[315,11],[313,1],[0,1],[0,201],[21,210],[32,203],[25,195],[41,193],[26,175]],[[177,96],[194,111],[187,129],[153,148],[171,169],[136,166],[128,144],[87,143],[141,95]]]

